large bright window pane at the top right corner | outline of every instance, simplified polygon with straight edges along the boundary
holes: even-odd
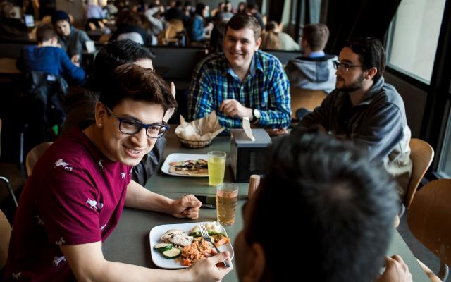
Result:
[[[388,66],[429,84],[446,0],[404,0],[388,37]]]

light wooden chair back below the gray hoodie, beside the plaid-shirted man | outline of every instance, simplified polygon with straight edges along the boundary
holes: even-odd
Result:
[[[298,87],[290,87],[291,118],[296,120],[296,110],[300,108],[313,111],[321,105],[327,94],[323,90],[308,90]]]

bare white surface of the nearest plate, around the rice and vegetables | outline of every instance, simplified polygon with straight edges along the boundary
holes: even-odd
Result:
[[[154,249],[154,246],[156,244],[161,243],[161,236],[163,234],[165,234],[166,231],[180,230],[180,231],[185,231],[185,233],[189,234],[190,231],[192,230],[192,228],[194,228],[195,226],[198,226],[201,223],[209,224],[209,225],[214,224],[215,226],[217,226],[219,233],[223,233],[228,237],[226,229],[224,229],[223,226],[221,226],[221,224],[219,224],[217,222],[216,223],[214,223],[214,222],[193,222],[193,223],[180,223],[180,224],[164,224],[164,225],[155,226],[154,228],[152,228],[152,230],[149,233],[150,254],[152,256],[152,262],[154,262],[154,264],[156,266],[163,268],[163,269],[183,269],[183,268],[188,267],[188,266],[182,265],[181,257],[178,257],[176,259],[166,259],[166,257],[163,257],[161,252]],[[208,226],[207,226],[207,229],[208,229]],[[230,253],[230,259],[233,259],[234,252],[233,252],[233,247],[230,244],[230,242],[220,245],[218,248],[221,252],[228,251]]]

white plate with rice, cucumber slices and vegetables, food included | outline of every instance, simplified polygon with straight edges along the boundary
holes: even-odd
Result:
[[[230,244],[230,238],[228,238],[226,229],[224,229],[221,224],[217,222],[193,222],[165,224],[152,228],[149,233],[152,262],[154,262],[156,266],[163,269],[183,269],[188,267],[188,264],[194,263],[195,260],[190,261],[190,259],[185,259],[184,257],[186,257],[188,253],[192,254],[192,252],[201,253],[199,250],[194,248],[194,246],[202,245],[203,240],[201,240],[202,236],[200,236],[200,233],[197,232],[199,237],[192,238],[193,236],[189,236],[192,231],[199,230],[198,226],[201,223],[205,224],[206,230],[209,234],[211,234],[211,238],[213,238],[213,240],[216,242],[217,240],[223,241],[223,244],[218,246],[219,250],[221,252],[228,251],[230,253],[230,259],[233,259],[234,252],[233,247]],[[224,236],[219,234],[223,234]],[[191,242],[197,242],[197,245],[190,243],[190,237],[192,238]],[[169,238],[171,240],[169,240]],[[185,245],[185,247],[182,245]],[[214,247],[211,246],[211,248],[209,248],[206,252],[202,252],[201,257],[204,258],[205,255],[214,255],[214,253],[216,253],[216,250],[214,250]]]

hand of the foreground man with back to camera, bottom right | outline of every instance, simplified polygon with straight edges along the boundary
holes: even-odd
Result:
[[[385,257],[385,271],[376,282],[413,282],[409,266],[399,255]]]

